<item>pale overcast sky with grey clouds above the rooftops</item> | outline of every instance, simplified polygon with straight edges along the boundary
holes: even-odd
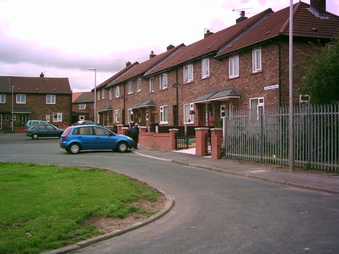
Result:
[[[296,3],[298,0],[294,0]],[[304,2],[310,3],[309,0]],[[69,78],[73,92],[89,91],[125,67],[189,45],[289,0],[0,0],[0,76]],[[339,15],[339,1],[327,11]]]

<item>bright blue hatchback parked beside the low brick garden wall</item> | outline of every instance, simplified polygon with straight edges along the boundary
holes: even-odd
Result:
[[[60,136],[60,147],[77,154],[80,150],[112,149],[126,152],[133,139],[96,125],[70,126]]]

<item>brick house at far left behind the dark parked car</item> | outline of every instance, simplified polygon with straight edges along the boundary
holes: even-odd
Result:
[[[45,78],[42,73],[40,77],[0,77],[0,99],[3,132],[11,132],[12,113],[14,132],[23,132],[28,120],[44,120],[57,127],[70,124],[72,91],[68,78]]]

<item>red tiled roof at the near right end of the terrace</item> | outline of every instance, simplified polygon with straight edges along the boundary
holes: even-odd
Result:
[[[308,38],[335,38],[339,35],[339,17],[327,12],[328,18],[320,18],[310,10],[310,5],[298,2],[293,5],[293,36]],[[289,35],[290,7],[270,14],[239,40],[228,45],[216,57],[258,44],[280,35]]]

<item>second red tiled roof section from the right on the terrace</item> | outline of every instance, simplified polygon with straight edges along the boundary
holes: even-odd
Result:
[[[271,8],[266,9],[235,25],[232,25],[226,29],[213,33],[197,42],[194,42],[182,48],[176,54],[169,57],[169,59],[167,59],[162,64],[154,68],[151,72],[147,73],[147,76],[166,70],[173,66],[188,62],[199,56],[204,56],[211,52],[216,51],[217,49],[222,47],[224,44],[226,44],[229,40],[239,35],[241,32],[249,28],[251,25],[257,22],[260,18],[262,18],[263,16],[265,16],[267,13],[270,13],[270,12],[272,12]]]

